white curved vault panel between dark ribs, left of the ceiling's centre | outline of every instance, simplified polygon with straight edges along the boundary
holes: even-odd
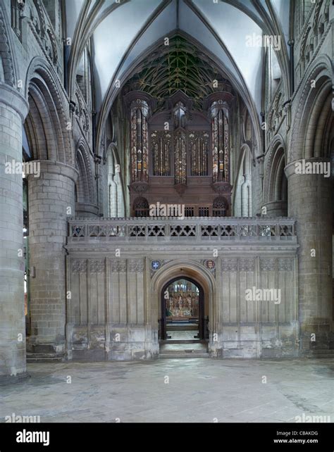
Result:
[[[159,0],[130,1],[109,14],[94,31],[94,68],[100,89],[98,108],[132,40],[160,3]]]

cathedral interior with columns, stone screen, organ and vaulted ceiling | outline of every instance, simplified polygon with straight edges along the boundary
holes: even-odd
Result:
[[[47,389],[85,372],[157,401],[168,365],[222,400],[285,369],[334,413],[333,24],[330,0],[0,0],[0,422],[87,420]],[[247,418],[260,388],[95,419],[301,415],[278,387],[280,416]]]

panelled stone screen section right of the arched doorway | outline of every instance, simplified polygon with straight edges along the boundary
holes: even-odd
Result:
[[[293,253],[278,256],[258,252],[247,258],[221,259],[218,339],[211,343],[214,355],[298,356],[297,260]],[[276,301],[261,300],[261,293],[255,294],[255,299],[252,294],[252,300],[248,300],[250,297],[245,294],[249,289],[253,292],[253,288],[275,288],[280,292],[276,292]]]

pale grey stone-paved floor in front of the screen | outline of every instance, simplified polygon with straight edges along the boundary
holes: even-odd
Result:
[[[0,387],[1,422],[12,413],[41,422],[334,421],[331,359],[41,363],[28,372]]]

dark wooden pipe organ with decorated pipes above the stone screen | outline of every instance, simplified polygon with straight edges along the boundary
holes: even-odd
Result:
[[[230,215],[233,99],[228,92],[210,94],[199,111],[183,92],[166,99],[164,108],[156,108],[157,99],[144,92],[125,96],[131,124],[130,215],[146,215],[158,201],[181,204],[188,216]]]

